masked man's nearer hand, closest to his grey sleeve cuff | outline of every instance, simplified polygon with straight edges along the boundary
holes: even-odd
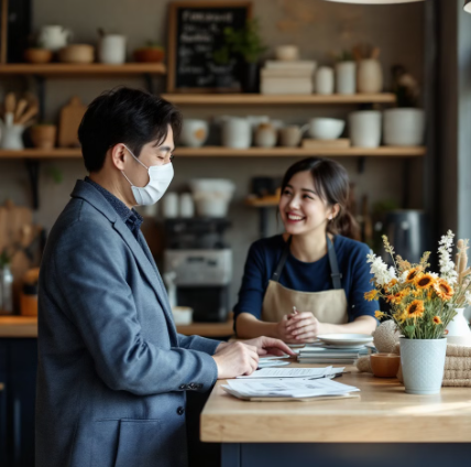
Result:
[[[212,356],[218,367],[218,379],[253,373],[259,365],[256,350],[256,347],[242,343],[219,345]]]

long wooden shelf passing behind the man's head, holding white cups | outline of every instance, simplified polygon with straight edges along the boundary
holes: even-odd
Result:
[[[381,146],[381,148],[249,148],[231,149],[223,146],[177,148],[177,158],[421,158],[424,146]],[[53,150],[24,149],[0,150],[0,159],[76,159],[81,158],[80,149],[55,148]]]

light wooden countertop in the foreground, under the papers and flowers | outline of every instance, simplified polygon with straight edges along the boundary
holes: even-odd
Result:
[[[309,367],[307,365],[297,365]],[[315,366],[310,366],[315,367]],[[212,443],[470,443],[471,389],[437,395],[404,392],[396,379],[352,371],[336,380],[361,398],[314,402],[248,402],[218,381],[201,414],[201,439]]]

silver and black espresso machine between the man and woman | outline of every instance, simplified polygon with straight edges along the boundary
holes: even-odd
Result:
[[[194,309],[194,322],[226,322],[232,281],[232,250],[223,240],[223,218],[166,219],[164,273],[175,273],[178,306]]]

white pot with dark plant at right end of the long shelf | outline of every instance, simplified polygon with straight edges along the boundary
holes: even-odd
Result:
[[[417,80],[401,66],[393,66],[395,109],[384,111],[384,143],[386,145],[415,146],[424,141],[425,112],[418,109]]]

